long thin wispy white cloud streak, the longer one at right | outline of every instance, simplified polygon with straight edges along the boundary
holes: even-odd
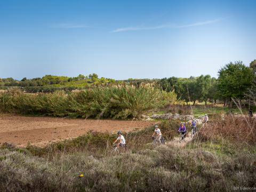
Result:
[[[124,31],[135,31],[135,30],[153,30],[153,29],[164,29],[164,28],[186,28],[186,27],[195,27],[195,26],[204,26],[209,25],[211,23],[219,22],[221,19],[208,20],[203,22],[190,23],[188,25],[159,25],[159,26],[150,26],[150,27],[124,27],[118,28],[112,33],[124,32]]]

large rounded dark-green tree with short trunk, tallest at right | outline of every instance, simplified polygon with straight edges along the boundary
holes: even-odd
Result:
[[[230,62],[219,71],[218,89],[221,97],[228,98],[230,107],[231,98],[243,99],[244,93],[253,82],[252,68],[246,67],[242,61]]]

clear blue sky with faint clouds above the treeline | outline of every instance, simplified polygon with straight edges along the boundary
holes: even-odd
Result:
[[[0,77],[210,74],[256,59],[256,1],[0,0]]]

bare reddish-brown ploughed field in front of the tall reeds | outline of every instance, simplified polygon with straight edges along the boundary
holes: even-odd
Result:
[[[99,132],[133,131],[156,122],[25,117],[0,114],[0,145],[4,142],[18,146],[28,143],[44,146],[49,142],[74,138],[93,130]]]

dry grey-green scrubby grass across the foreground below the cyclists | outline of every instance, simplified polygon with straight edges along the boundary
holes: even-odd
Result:
[[[95,158],[85,153],[51,161],[0,150],[1,191],[231,191],[253,186],[256,159],[219,157],[201,149],[159,146]],[[78,175],[83,173],[83,178]]]

